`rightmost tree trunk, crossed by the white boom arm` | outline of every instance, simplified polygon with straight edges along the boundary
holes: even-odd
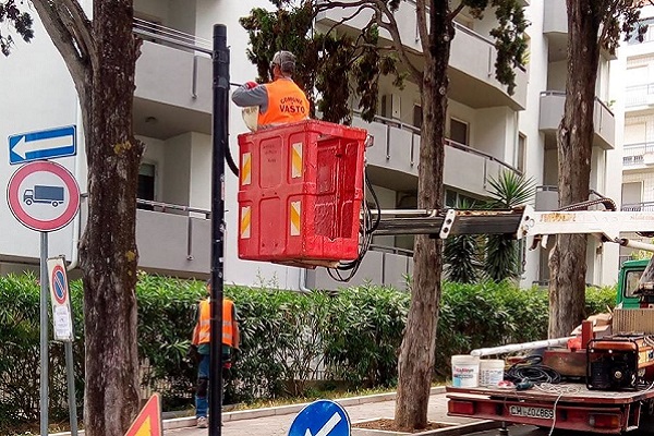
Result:
[[[568,5],[568,78],[566,106],[557,135],[559,206],[589,199],[593,150],[593,110],[600,61],[602,13],[594,0]],[[585,235],[559,235],[549,257],[550,338],[569,336],[584,318]]]

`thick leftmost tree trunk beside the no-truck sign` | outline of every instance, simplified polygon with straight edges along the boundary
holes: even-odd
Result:
[[[132,126],[140,53],[132,17],[131,0],[94,1],[98,62],[90,73],[88,98],[81,100],[88,162],[88,222],[80,244],[87,436],[123,436],[140,405],[134,290],[143,146]]]

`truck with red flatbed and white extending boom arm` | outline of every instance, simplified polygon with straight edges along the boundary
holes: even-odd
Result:
[[[507,211],[386,210],[379,215],[374,234],[423,233],[440,239],[506,234],[533,238],[535,247],[546,246],[548,235],[579,233],[592,234],[606,243],[654,251],[652,244],[620,238],[623,232],[651,235],[654,213],[650,211],[536,211],[525,206]],[[650,337],[654,334],[654,308],[647,300],[653,290],[651,262],[639,284],[641,301],[645,303],[640,308],[617,308],[610,337],[595,339],[592,326],[584,322],[581,349],[560,347],[573,339],[570,337],[474,350],[471,354],[483,356],[545,348],[544,362],[556,366],[566,382],[546,388],[448,386],[448,414],[597,434],[639,428],[641,417],[654,410],[654,337]]]

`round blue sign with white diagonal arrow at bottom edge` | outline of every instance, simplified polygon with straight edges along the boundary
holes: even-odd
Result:
[[[350,436],[350,416],[330,400],[314,401],[298,413],[288,436]]]

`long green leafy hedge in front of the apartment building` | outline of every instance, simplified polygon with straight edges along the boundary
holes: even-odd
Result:
[[[227,286],[242,330],[242,351],[226,374],[226,400],[300,396],[312,380],[350,387],[393,386],[410,294],[377,286],[296,293]],[[39,287],[34,276],[0,277],[0,434],[39,416]],[[204,282],[140,274],[138,350],[143,387],[166,410],[192,404],[195,368],[186,359]],[[71,282],[77,404],[83,403],[82,284]],[[615,304],[615,289],[589,289],[589,314]],[[452,354],[479,347],[543,339],[547,291],[484,282],[445,283],[436,377],[449,376]],[[51,337],[51,334],[50,334]],[[52,421],[68,417],[63,347],[50,341]],[[81,415],[81,411],[80,411]]]

